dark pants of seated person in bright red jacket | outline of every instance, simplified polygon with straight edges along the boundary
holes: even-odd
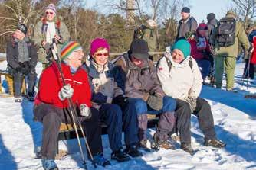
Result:
[[[80,122],[85,127],[87,142],[94,156],[103,152],[103,148],[99,113],[93,107],[91,107],[91,111],[92,117],[89,120],[83,120],[83,117],[80,117]],[[39,104],[34,106],[34,117],[43,123],[41,155],[46,159],[54,159],[57,153],[57,136],[61,122],[72,123],[71,114],[67,109],[54,107],[51,104]]]

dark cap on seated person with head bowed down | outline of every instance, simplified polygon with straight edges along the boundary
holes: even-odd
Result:
[[[130,45],[131,55],[136,59],[148,59],[149,47],[145,40],[134,39]]]

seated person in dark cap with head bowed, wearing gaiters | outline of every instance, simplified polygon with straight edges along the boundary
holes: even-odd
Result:
[[[139,123],[139,148],[146,147],[147,114],[159,114],[159,123],[154,134],[154,148],[174,149],[168,143],[168,133],[174,126],[176,101],[167,97],[159,84],[156,68],[149,59],[149,48],[142,39],[131,43],[130,51],[117,59],[116,69],[120,80],[117,84],[130,103],[135,104]]]

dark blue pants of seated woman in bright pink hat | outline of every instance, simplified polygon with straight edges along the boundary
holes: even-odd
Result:
[[[132,103],[126,102],[124,108],[117,104],[102,104],[100,119],[107,124],[107,134],[113,152],[122,148],[122,124],[126,146],[138,143],[137,116]]]

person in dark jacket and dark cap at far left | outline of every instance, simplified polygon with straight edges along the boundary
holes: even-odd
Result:
[[[7,43],[8,72],[14,77],[15,102],[21,102],[23,76],[28,76],[28,99],[34,101],[34,85],[37,79],[35,66],[38,54],[30,42],[25,24],[19,24],[12,39]]]

